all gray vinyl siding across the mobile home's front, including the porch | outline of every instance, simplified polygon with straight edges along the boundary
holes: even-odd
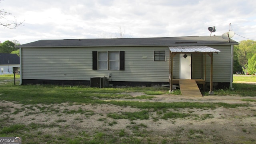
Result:
[[[230,46],[210,46],[214,53],[213,82],[230,82]],[[169,82],[168,46],[21,48],[22,78],[36,80],[90,80],[112,74],[110,81]],[[154,61],[154,50],[164,50],[165,61]],[[92,51],[124,51],[125,70],[92,70]],[[143,58],[146,57],[146,58]],[[203,60],[203,62],[202,62]],[[206,54],[206,82],[210,82],[210,57]],[[192,78],[204,78],[204,55],[193,54]],[[179,56],[173,59],[173,78],[179,78]]]

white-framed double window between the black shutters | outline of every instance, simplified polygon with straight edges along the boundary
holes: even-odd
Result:
[[[119,70],[119,52],[98,52],[99,70]]]

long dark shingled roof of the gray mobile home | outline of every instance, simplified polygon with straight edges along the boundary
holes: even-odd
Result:
[[[110,46],[175,46],[175,45],[236,45],[234,40],[224,40],[221,36],[185,36],[164,38],[105,38],[105,39],[65,39],[38,40],[22,44],[19,48],[50,47],[110,47]]]

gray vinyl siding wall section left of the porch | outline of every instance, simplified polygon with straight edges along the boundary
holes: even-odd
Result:
[[[166,60],[154,61],[154,50],[166,51]],[[92,51],[125,51],[125,70],[92,70]],[[94,76],[108,77],[108,73],[112,73],[112,81],[169,82],[169,49],[22,48],[23,79],[90,80]]]

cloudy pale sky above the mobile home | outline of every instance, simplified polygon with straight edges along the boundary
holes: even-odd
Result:
[[[0,26],[1,42],[116,38],[120,28],[125,38],[210,36],[213,26],[212,35],[256,40],[255,0],[1,0],[0,9],[24,21]]]

